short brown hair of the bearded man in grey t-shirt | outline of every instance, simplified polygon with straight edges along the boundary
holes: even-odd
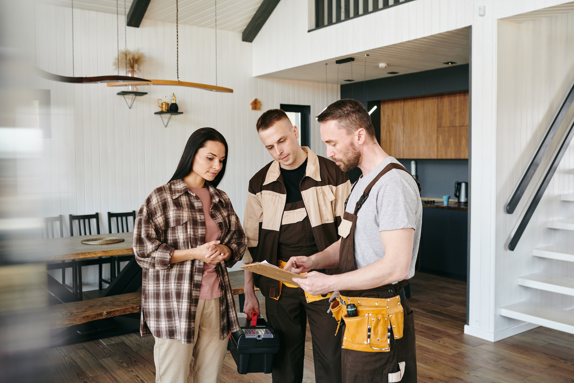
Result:
[[[339,128],[344,129],[348,135],[352,135],[360,128],[364,128],[367,135],[377,140],[375,128],[371,116],[364,109],[363,104],[351,98],[340,99],[327,106],[323,112],[317,116],[320,123],[325,121],[337,121]]]

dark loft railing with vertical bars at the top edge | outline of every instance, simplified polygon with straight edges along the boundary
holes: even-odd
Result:
[[[311,30],[414,0],[310,0],[315,2],[315,26]]]

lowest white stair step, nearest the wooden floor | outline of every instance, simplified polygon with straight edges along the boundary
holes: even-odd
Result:
[[[520,302],[501,308],[501,315],[574,334],[574,312]]]

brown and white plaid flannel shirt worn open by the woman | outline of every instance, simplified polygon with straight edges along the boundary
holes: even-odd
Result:
[[[239,330],[235,301],[227,267],[241,259],[247,239],[227,194],[209,182],[211,216],[219,225],[219,240],[231,249],[231,258],[215,270],[222,290],[221,339]],[[182,179],[160,186],[146,198],[134,225],[135,260],[143,269],[141,335],[180,339],[193,343],[195,313],[199,300],[203,262],[170,264],[173,250],[205,243],[205,219],[201,200]]]

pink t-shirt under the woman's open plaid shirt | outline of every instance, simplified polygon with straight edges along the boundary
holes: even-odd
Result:
[[[219,238],[221,230],[218,224],[211,217],[211,196],[207,187],[190,187],[191,191],[201,200],[203,215],[205,217],[205,242],[215,241]],[[199,299],[213,299],[221,296],[219,278],[215,271],[215,263],[211,265],[203,264],[203,275],[201,276],[201,288],[199,289]]]

